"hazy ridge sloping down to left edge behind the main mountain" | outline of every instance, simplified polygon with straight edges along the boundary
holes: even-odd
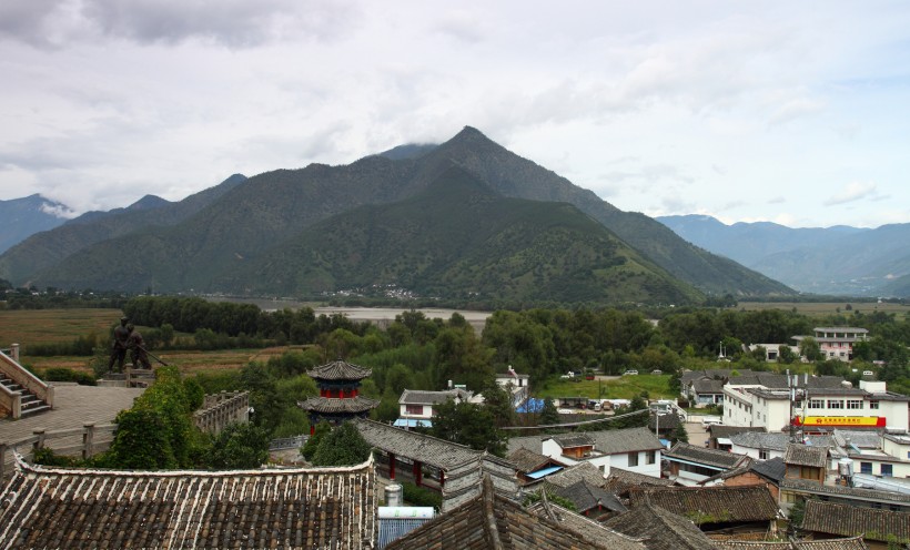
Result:
[[[0,278],[26,284],[36,273],[93,244],[133,231],[180,223],[245,180],[246,176],[234,174],[176,203],[146,195],[127,208],[82,214],[52,231],[32,235],[0,255]]]

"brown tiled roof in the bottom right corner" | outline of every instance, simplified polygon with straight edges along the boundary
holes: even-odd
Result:
[[[849,505],[836,505],[809,499],[802,517],[802,529],[853,537],[865,534],[869,540],[887,540],[889,534],[897,542],[910,542],[910,512],[892,512]]]

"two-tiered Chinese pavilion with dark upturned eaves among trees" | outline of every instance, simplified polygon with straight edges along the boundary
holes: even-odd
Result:
[[[370,409],[375,408],[380,401],[357,394],[361,380],[372,373],[371,369],[342,359],[307,370],[306,374],[316,380],[320,388],[318,397],[297,403],[300,408],[310,414],[310,435],[313,435],[316,425],[323,420],[337,426],[355,417],[366,418]]]

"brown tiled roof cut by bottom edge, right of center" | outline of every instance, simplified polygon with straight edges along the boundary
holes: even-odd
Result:
[[[609,529],[641,539],[649,550],[716,549],[695,523],[653,505],[641,505],[604,522]]]

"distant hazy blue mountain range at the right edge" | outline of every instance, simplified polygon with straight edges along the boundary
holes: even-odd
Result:
[[[683,238],[728,256],[798,291],[847,296],[908,297],[910,224],[869,230],[790,228],[778,224],[726,225],[710,216],[658,221]]]

